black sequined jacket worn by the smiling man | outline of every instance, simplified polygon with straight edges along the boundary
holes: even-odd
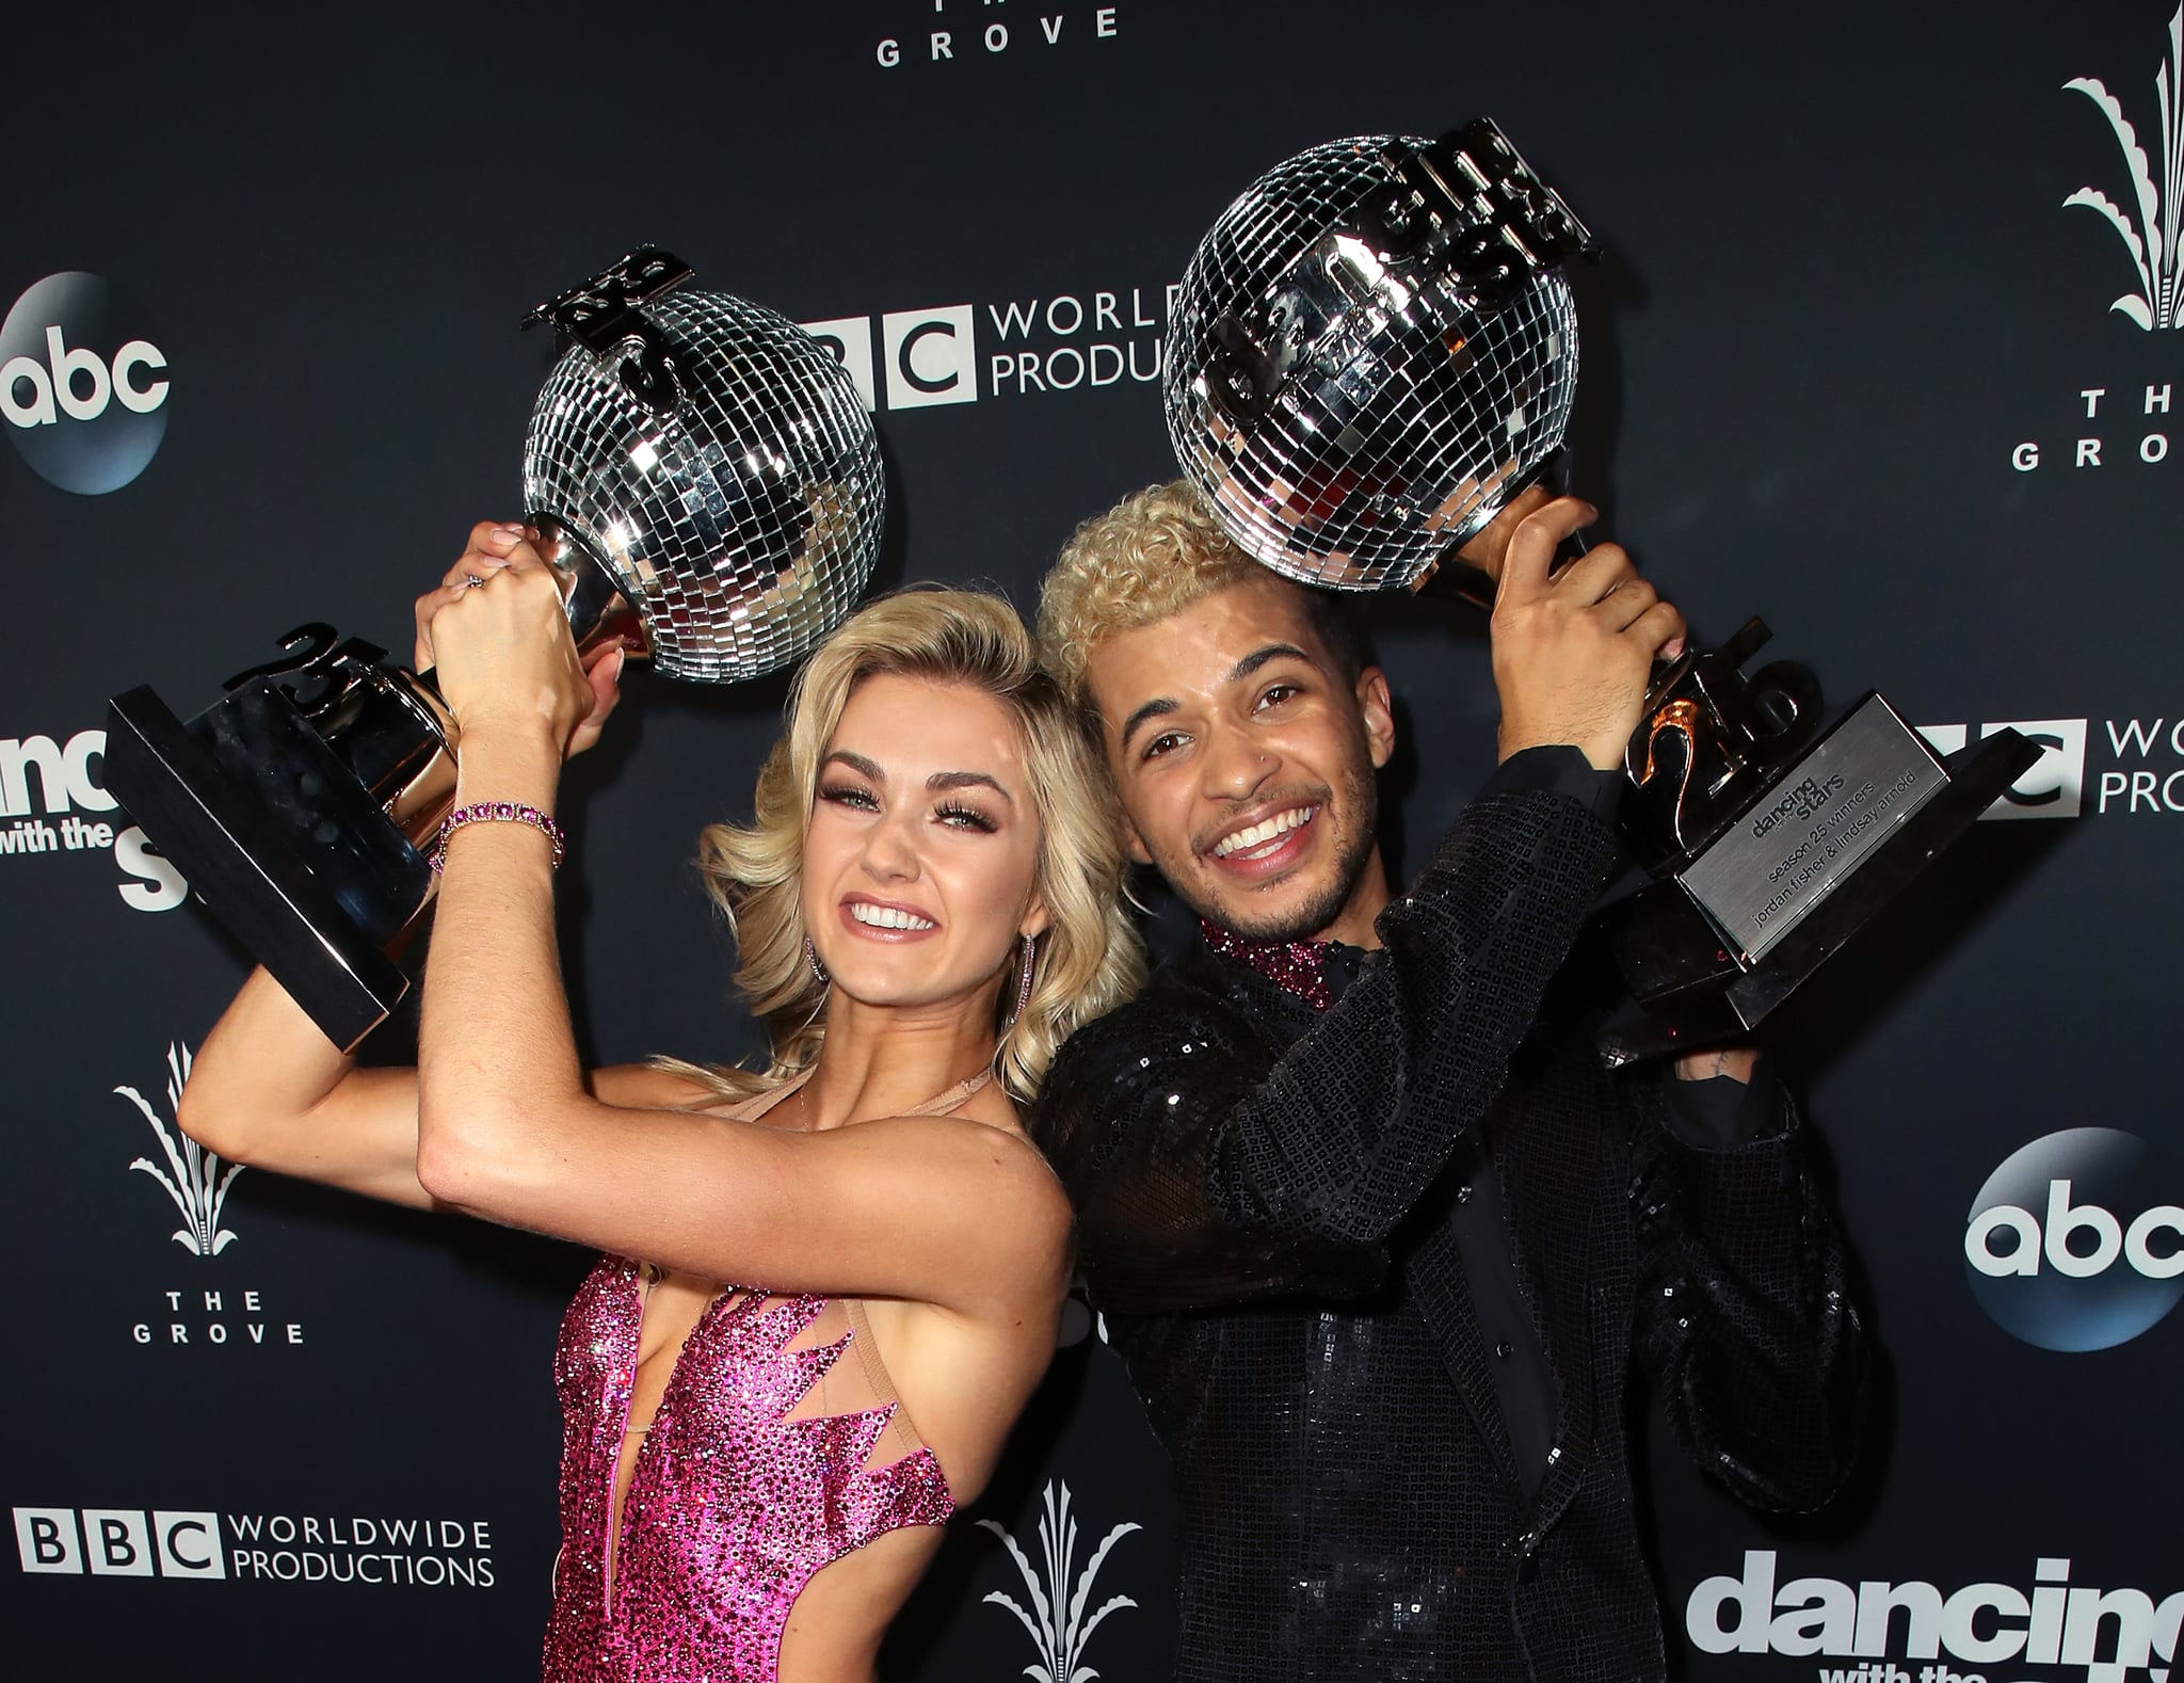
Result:
[[[1177,1467],[1179,1679],[1660,1676],[1634,1364],[1743,1500],[1841,1482],[1863,1334],[1787,1100],[1693,1146],[1660,1072],[1531,1033],[1610,860],[1581,801],[1483,797],[1330,1011],[1195,945],[1048,1076],[1033,1129]],[[1435,1218],[1468,1129],[1559,1390],[1535,1493]]]

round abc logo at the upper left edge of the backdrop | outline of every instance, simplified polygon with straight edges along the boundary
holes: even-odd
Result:
[[[118,491],[142,474],[166,437],[166,389],[142,310],[98,275],[46,275],[0,325],[0,415],[63,491]]]

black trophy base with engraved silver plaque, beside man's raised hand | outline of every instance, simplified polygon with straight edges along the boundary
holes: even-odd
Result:
[[[1631,1002],[1594,1037],[1601,1061],[1745,1037],[2038,757],[1998,731],[1937,762],[1870,696],[1721,840],[1603,912]]]

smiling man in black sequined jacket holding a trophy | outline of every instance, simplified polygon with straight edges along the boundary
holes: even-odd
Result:
[[[1780,1085],[1747,1050],[1612,1078],[1555,1004],[1684,635],[1616,546],[1553,572],[1590,517],[1529,493],[1463,552],[1500,766],[1400,899],[1389,688],[1339,598],[1182,482],[1046,578],[1042,657],[1201,932],[1033,1115],[1175,1460],[1179,1679],[1660,1676],[1634,1366],[1756,1506],[1848,1469],[1863,1332]]]

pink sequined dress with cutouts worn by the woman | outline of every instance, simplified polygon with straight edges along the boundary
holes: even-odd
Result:
[[[773,1683],[812,1574],[898,1526],[943,1524],[948,1480],[898,1417],[860,1303],[727,1286],[690,1329],[638,1447],[609,1589],[642,1314],[642,1264],[605,1257],[561,1321],[561,1561],[544,1679]],[[869,1406],[828,1408],[843,1397]]]

